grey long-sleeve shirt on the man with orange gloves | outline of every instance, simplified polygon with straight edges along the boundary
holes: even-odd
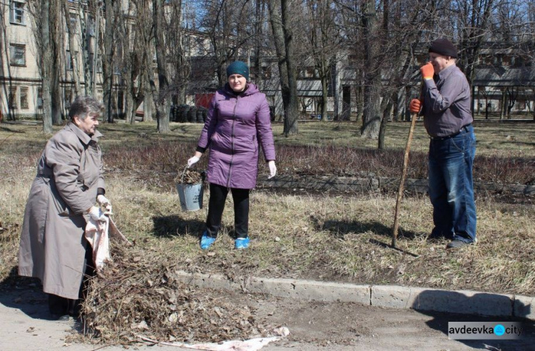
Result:
[[[474,121],[467,77],[455,65],[424,81],[424,126],[429,136],[450,136]]]

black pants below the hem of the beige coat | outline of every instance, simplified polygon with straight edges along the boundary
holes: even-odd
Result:
[[[51,315],[71,315],[72,317],[78,317],[78,315],[80,315],[81,303],[86,298],[88,280],[95,275],[95,268],[93,268],[93,250],[91,249],[91,244],[89,243],[87,243],[86,246],[83,272],[84,274],[80,286],[80,292],[78,292],[78,300],[72,300],[66,297],[49,294],[49,311]]]

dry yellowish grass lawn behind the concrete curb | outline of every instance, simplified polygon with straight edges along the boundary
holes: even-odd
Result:
[[[193,155],[200,124],[171,123],[158,134],[154,123],[104,124],[106,194],[118,228],[146,255],[170,257],[178,269],[282,278],[472,289],[535,295],[535,209],[477,199],[478,243],[446,251],[445,240],[429,241],[432,208],[424,195],[404,198],[400,250],[388,247],[394,195],[254,190],[249,250],[233,249],[229,196],[223,229],[213,250],[198,247],[207,208],[180,210],[173,178]],[[387,150],[360,138],[356,123],[300,123],[297,136],[282,136],[275,124],[281,174],[399,176],[409,123],[388,123]],[[529,183],[534,178],[534,123],[476,122],[477,178]],[[0,280],[16,268],[24,206],[35,165],[49,136],[41,126],[0,124]],[[421,122],[412,143],[409,177],[426,176],[428,139]],[[479,164],[478,164],[479,160]],[[200,168],[205,166],[205,158]],[[267,167],[260,166],[260,173]],[[531,177],[531,178],[530,178]],[[204,203],[208,203],[208,193]],[[403,253],[405,252],[405,253]],[[412,255],[408,254],[411,253]],[[417,257],[415,257],[417,256]]]

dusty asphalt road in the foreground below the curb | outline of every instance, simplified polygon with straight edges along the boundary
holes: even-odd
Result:
[[[255,295],[257,318],[285,326],[290,335],[262,350],[535,350],[533,322],[519,321],[519,340],[449,340],[448,322],[511,320],[392,310],[342,302],[313,302]],[[37,287],[0,289],[0,350],[125,350],[121,345],[68,342],[80,326],[49,320],[46,296]],[[70,336],[70,337],[69,337]],[[130,345],[133,350],[188,350],[168,345]],[[240,349],[233,349],[240,350]],[[246,347],[241,350],[251,350]]]

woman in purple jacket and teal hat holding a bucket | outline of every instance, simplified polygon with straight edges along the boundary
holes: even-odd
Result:
[[[277,173],[265,94],[255,84],[248,83],[249,68],[242,61],[230,63],[227,77],[228,83],[210,102],[195,156],[188,160],[188,166],[193,166],[210,148],[207,174],[210,201],[206,230],[200,238],[203,250],[210,248],[218,235],[229,189],[234,200],[235,248],[248,248],[249,193],[256,185],[259,146],[270,168],[269,178]]]

